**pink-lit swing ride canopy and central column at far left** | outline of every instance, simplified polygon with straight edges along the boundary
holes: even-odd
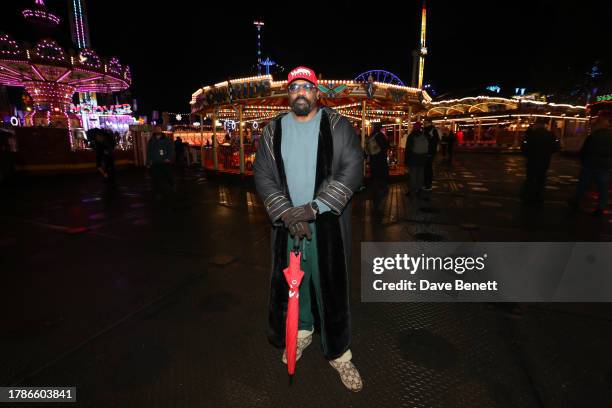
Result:
[[[23,16],[35,28],[42,22],[59,24],[59,17],[42,0]],[[129,88],[131,81],[128,66],[114,57],[104,60],[92,49],[68,52],[52,38],[30,46],[0,34],[0,85],[25,88],[32,98],[27,126],[80,127],[80,118],[70,111],[75,93],[118,92]]]

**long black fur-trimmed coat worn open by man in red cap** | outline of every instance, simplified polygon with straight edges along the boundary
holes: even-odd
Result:
[[[331,211],[319,214],[317,251],[321,276],[321,300],[327,350],[325,357],[341,356],[350,346],[349,268],[351,260],[351,197],[361,186],[363,150],[350,122],[337,112],[321,108],[317,171],[313,199]],[[285,346],[288,286],[287,234],[281,216],[292,207],[281,155],[282,126],[279,115],[263,131],[253,171],[257,192],[272,221],[272,272],[268,305],[268,339]],[[313,302],[315,305],[316,302]],[[316,307],[313,308],[317,316]],[[317,319],[320,322],[319,319]]]

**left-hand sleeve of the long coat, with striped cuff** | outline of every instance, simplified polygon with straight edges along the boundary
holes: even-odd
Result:
[[[264,208],[270,217],[270,221],[275,226],[281,226],[283,225],[280,219],[281,216],[293,205],[283,192],[283,188],[278,183],[277,178],[274,177],[275,169],[276,159],[272,153],[270,129],[266,128],[255,154],[253,178],[255,180],[255,188],[264,203]]]

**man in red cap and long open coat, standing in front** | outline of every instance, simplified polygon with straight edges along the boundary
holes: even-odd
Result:
[[[268,339],[285,346],[288,286],[283,269],[294,239],[300,239],[305,275],[299,292],[297,359],[318,326],[330,365],[349,390],[360,391],[361,376],[349,348],[349,261],[351,197],[361,186],[363,151],[350,122],[318,106],[312,69],[293,69],[287,84],[291,112],[265,127],[253,165],[257,192],[272,221]],[[286,362],[286,354],[282,360]]]

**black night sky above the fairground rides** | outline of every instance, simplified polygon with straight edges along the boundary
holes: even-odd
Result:
[[[66,0],[46,0],[63,19]],[[0,31],[28,36],[20,9],[4,0]],[[320,5],[316,7],[315,5]],[[556,90],[576,82],[596,60],[611,64],[610,14],[603,1],[429,1],[425,83],[438,93],[499,84]],[[241,2],[89,0],[93,48],[132,68],[139,113],[187,112],[203,85],[252,75],[254,19],[266,23],[264,56],[286,70],[308,65],[324,78],[352,79],[385,69],[406,84],[420,28],[421,1]],[[285,77],[278,74],[276,77]]]

